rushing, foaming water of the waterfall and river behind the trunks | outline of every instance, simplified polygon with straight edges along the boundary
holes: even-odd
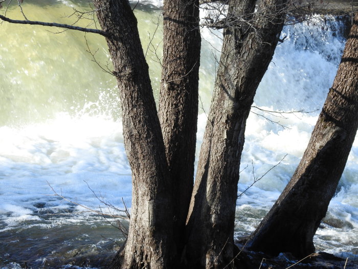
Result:
[[[25,2],[24,12],[29,19],[65,22],[68,18],[64,16],[73,13],[73,7],[89,8],[86,1],[46,3]],[[160,9],[156,7],[160,5],[152,2],[136,8],[156,98],[160,65],[153,51],[161,45]],[[16,6],[9,8],[8,15],[21,18]],[[88,23],[80,22],[83,26]],[[277,47],[257,91],[254,106],[261,109],[315,112],[270,115],[252,109],[239,193],[254,176],[261,177],[287,156],[237,201],[237,238],[254,230],[295,171],[316,123],[316,110],[323,106],[337,71],[344,48],[343,25],[333,19],[327,25],[317,19],[315,24],[284,29],[283,35],[289,38]],[[110,70],[105,40],[95,34],[49,31],[58,29],[0,26],[1,268],[20,268],[25,262],[32,268],[101,266],[123,242],[119,231],[102,217],[55,196],[51,189],[106,213],[113,211],[96,195],[121,209],[123,197],[130,207],[131,172],[123,146],[116,81],[86,52],[88,48],[96,52],[97,61]],[[197,154],[221,46],[219,32],[203,29],[202,36],[203,106],[198,116]],[[153,46],[148,47],[151,39]],[[315,236],[318,251],[344,257],[354,257],[358,245],[357,141]]]

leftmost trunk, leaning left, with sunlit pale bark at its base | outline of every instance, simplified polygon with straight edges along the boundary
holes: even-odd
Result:
[[[148,65],[128,0],[95,0],[121,96],[132,170],[132,205],[122,268],[171,268],[172,200],[165,147]],[[119,265],[115,264],[119,267]]]

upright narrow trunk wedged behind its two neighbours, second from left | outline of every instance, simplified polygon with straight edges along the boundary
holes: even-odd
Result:
[[[199,1],[164,1],[159,118],[173,180],[174,237],[183,247],[193,189],[200,65]]]

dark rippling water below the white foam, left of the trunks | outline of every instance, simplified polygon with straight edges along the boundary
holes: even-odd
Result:
[[[56,216],[0,233],[0,268],[102,267],[113,258],[123,236],[98,216]],[[73,223],[71,223],[73,222]],[[115,222],[114,222],[115,223]],[[1,229],[2,227],[0,227]]]

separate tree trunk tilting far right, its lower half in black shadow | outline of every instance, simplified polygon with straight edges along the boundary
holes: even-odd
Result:
[[[307,149],[288,185],[249,238],[252,250],[305,257],[326,215],[358,127],[358,13]]]

